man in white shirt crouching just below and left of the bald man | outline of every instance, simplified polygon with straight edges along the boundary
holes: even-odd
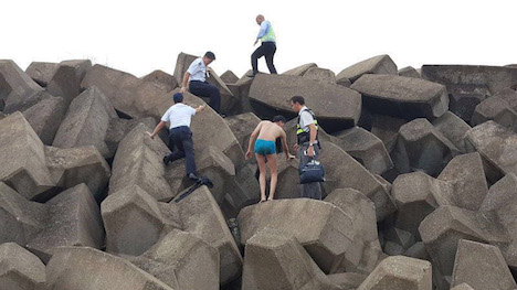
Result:
[[[198,57],[193,61],[183,75],[183,84],[181,84],[181,93],[187,92],[187,84],[190,93],[198,97],[210,98],[209,106],[218,114],[221,108],[221,93],[219,88],[207,82],[207,66],[215,61],[213,52],[207,52],[203,57]]]

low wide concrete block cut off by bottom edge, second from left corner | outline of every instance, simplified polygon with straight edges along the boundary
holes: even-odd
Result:
[[[88,247],[60,248],[46,266],[46,287],[60,290],[173,290],[129,261]]]

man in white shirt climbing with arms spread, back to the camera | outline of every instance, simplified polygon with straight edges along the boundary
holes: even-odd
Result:
[[[156,135],[169,123],[170,140],[175,143],[175,151],[163,158],[163,163],[167,165],[178,159],[184,158],[187,165],[187,176],[190,180],[198,180],[196,175],[196,159],[193,153],[192,131],[190,130],[190,122],[192,116],[204,109],[204,106],[192,108],[184,104],[183,94],[176,93],[173,95],[175,105],[171,106],[161,117],[161,121],[156,126],[152,133],[149,133],[154,139]]]

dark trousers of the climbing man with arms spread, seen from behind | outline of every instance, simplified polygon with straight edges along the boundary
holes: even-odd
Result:
[[[170,140],[175,143],[176,150],[166,157],[167,162],[173,162],[184,158],[187,175],[196,173],[196,159],[193,154],[192,131],[189,127],[182,126],[170,129]]]

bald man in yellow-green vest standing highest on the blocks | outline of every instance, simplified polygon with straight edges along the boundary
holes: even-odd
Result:
[[[267,68],[270,69],[271,74],[276,74],[275,65],[273,64],[273,58],[275,57],[276,52],[276,37],[275,32],[273,31],[273,26],[271,25],[270,21],[266,21],[263,15],[256,17],[256,23],[261,25],[261,30],[258,31],[258,35],[256,36],[255,44],[261,40],[262,45],[256,49],[256,51],[252,54],[252,75],[250,77],[254,77],[258,73],[258,58],[265,56]]]

